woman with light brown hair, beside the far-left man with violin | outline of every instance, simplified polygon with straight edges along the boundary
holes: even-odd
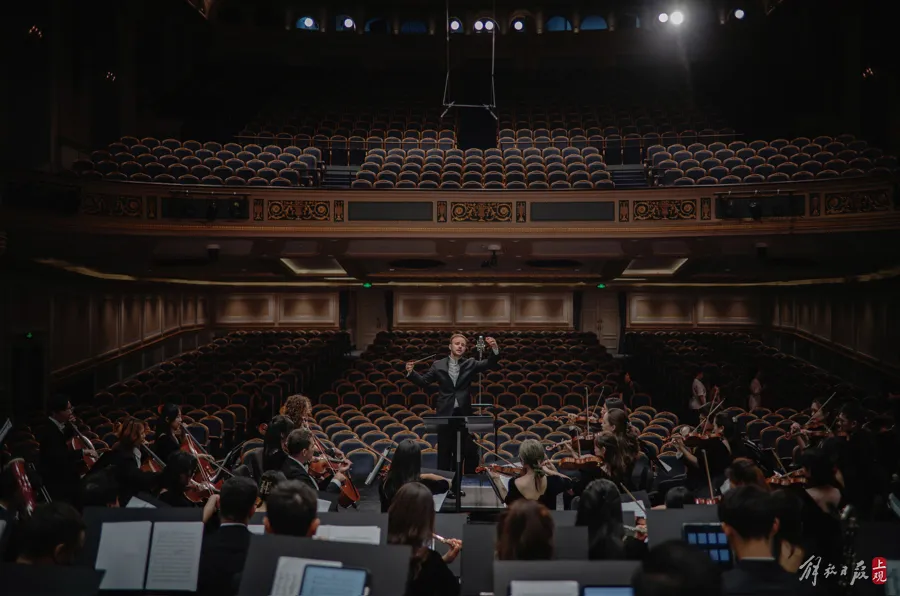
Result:
[[[116,442],[112,448],[104,453],[89,476],[110,470],[116,484],[119,487],[119,503],[127,505],[131,497],[139,492],[150,492],[159,481],[159,475],[154,472],[141,471],[144,445],[144,437],[147,434],[147,426],[143,420],[126,418],[116,429]]]

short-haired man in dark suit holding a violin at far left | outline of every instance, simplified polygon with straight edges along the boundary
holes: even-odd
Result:
[[[76,504],[85,450],[70,449],[68,442],[76,436],[72,404],[64,395],[54,395],[48,403],[50,424],[40,435],[40,471],[47,492],[54,501]],[[97,456],[95,451],[88,454]]]

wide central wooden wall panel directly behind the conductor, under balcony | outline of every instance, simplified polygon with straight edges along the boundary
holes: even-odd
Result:
[[[573,324],[568,292],[394,295],[394,325],[401,328],[572,329]]]

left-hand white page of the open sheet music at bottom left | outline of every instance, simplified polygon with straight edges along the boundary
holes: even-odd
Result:
[[[143,590],[153,523],[107,522],[100,529],[94,568],[105,571],[101,590]]]

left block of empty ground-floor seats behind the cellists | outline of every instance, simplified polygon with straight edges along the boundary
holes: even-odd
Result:
[[[141,418],[152,430],[160,405],[180,404],[191,435],[218,455],[243,439],[248,424],[268,421],[288,395],[335,374],[333,367],[348,349],[348,336],[331,331],[230,333],[88,401],[73,396],[75,413],[80,430],[102,451],[115,442],[113,429],[120,418]],[[6,441],[8,455],[36,463],[35,437],[47,422],[45,413],[36,412],[14,428]],[[148,441],[152,439],[151,432]]]

